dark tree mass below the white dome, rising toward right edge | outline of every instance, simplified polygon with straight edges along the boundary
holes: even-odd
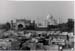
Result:
[[[68,19],[67,23],[48,25],[48,29],[58,29],[60,31],[74,32],[74,20]]]

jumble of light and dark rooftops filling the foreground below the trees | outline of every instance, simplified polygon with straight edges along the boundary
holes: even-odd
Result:
[[[40,33],[39,31],[27,32],[9,30],[2,34],[0,47],[6,50],[45,50],[44,46],[49,45],[61,45],[63,48],[64,46],[65,48],[73,48],[73,41],[70,41],[70,39],[73,39],[73,36],[69,36],[69,34],[73,35],[73,32],[45,31]],[[32,48],[33,46],[34,48]],[[37,46],[39,46],[39,48],[37,48]]]

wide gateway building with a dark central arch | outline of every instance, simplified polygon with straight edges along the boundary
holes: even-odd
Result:
[[[26,19],[17,19],[15,23],[11,22],[13,29],[23,29],[26,28],[26,26],[29,26],[31,23],[30,20]]]

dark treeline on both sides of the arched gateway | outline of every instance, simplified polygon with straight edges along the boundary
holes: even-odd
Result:
[[[0,26],[0,29],[11,29],[11,24],[7,22],[4,25]],[[35,21],[31,23],[29,26],[26,26],[28,30],[60,30],[60,31],[67,31],[67,32],[73,32],[74,31],[74,19],[68,19],[67,23],[62,23],[58,25],[48,25],[47,28],[38,28]]]

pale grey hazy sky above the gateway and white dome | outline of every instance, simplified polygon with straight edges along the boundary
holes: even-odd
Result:
[[[44,20],[52,14],[56,20],[66,22],[74,18],[74,2],[72,1],[7,1],[0,0],[0,23],[11,19],[26,18]]]

